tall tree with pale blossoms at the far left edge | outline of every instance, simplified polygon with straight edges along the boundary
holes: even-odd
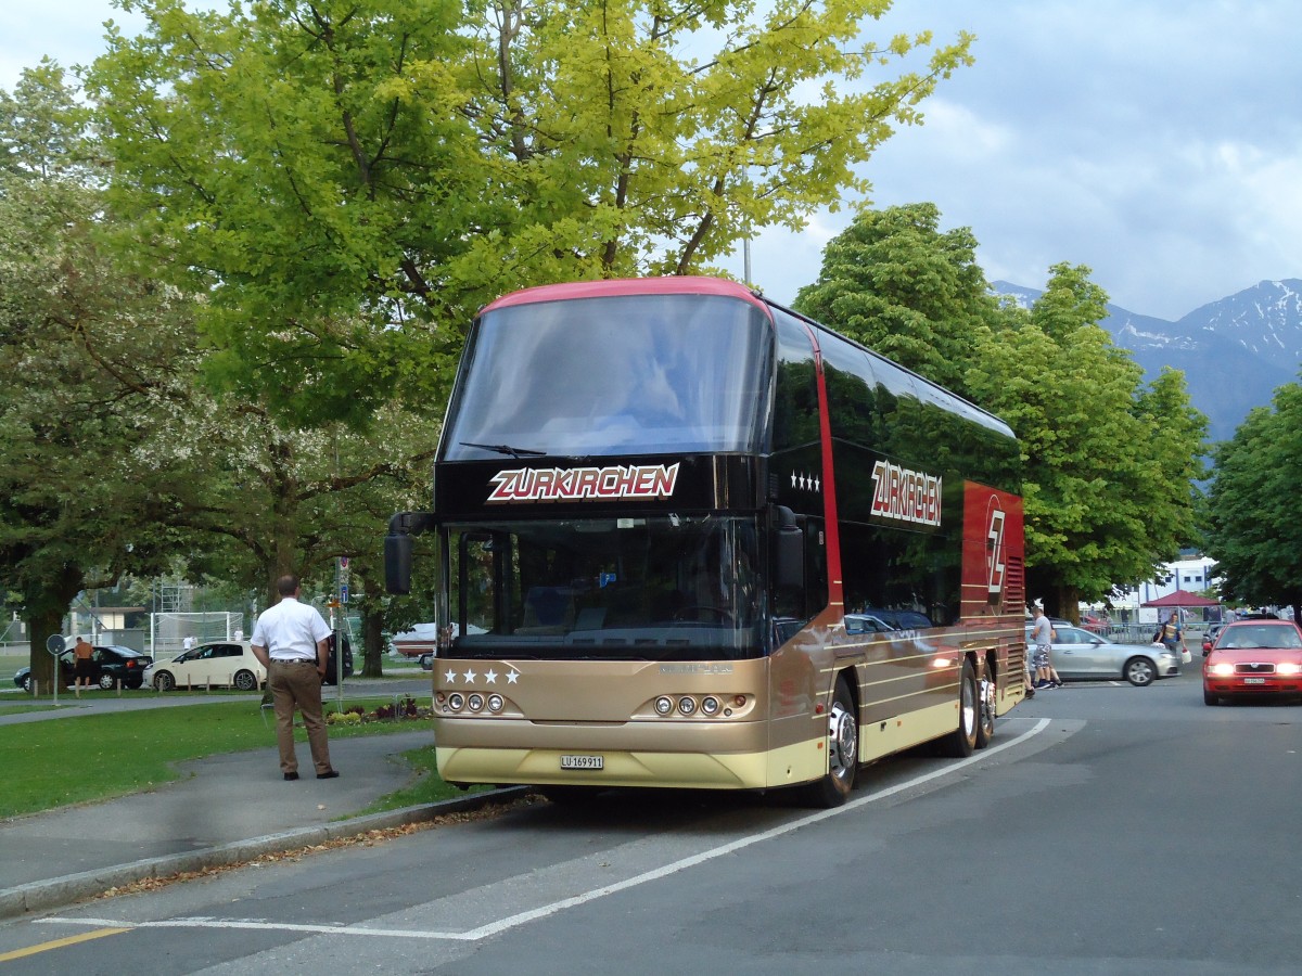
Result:
[[[134,452],[159,433],[151,390],[193,337],[187,303],[102,246],[83,122],[49,62],[0,94],[0,562],[43,682],[44,640],[87,574],[150,566],[171,543],[155,489],[174,472]]]

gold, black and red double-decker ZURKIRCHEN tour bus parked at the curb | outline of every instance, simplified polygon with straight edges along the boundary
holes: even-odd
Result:
[[[990,742],[1023,694],[1018,446],[741,285],[553,285],[477,316],[413,536],[448,782],[773,790]]]

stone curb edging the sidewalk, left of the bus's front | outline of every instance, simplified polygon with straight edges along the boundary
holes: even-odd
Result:
[[[483,809],[484,807],[513,803],[530,793],[527,786],[509,786],[499,790],[477,793],[470,796],[457,796],[440,803],[427,803],[418,807],[404,807],[384,813],[371,813],[365,817],[339,820],[319,826],[305,826],[283,830],[266,837],[247,841],[233,841],[217,847],[199,851],[172,854],[165,858],[148,858],[105,868],[83,871],[77,874],[47,881],[33,881],[17,888],[0,889],[0,919],[14,919],[27,912],[47,908],[61,908],[73,902],[103,894],[113,888],[134,885],[155,877],[169,877],[187,871],[203,871],[229,864],[255,860],[266,854],[281,854],[298,847],[309,847],[327,841],[354,837],[367,830],[384,830],[408,824],[423,824],[445,813]]]

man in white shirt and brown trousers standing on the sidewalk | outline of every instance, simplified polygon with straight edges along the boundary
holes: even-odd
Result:
[[[303,716],[307,744],[318,779],[339,776],[329,763],[329,737],[322,718],[322,681],[329,655],[329,625],[311,604],[298,603],[298,578],[276,580],[280,603],[263,610],[254,625],[254,656],[267,669],[267,687],[276,708],[276,743],[280,772],[285,779],[298,778],[294,755],[294,707]]]

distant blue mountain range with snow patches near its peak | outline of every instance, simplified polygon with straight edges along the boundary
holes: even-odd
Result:
[[[1006,281],[992,288],[1021,305],[1043,294]],[[1182,370],[1190,400],[1210,420],[1207,436],[1229,440],[1249,410],[1269,405],[1279,386],[1298,380],[1302,281],[1262,281],[1178,321],[1109,305],[1108,318],[1099,324],[1117,346],[1130,350],[1144,379],[1164,366]]]

